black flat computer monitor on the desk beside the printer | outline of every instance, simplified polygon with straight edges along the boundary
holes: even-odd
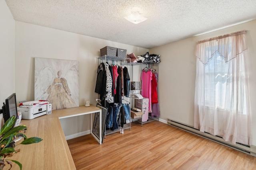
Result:
[[[12,116],[15,116],[17,119],[17,104],[16,104],[16,93],[13,93],[11,96],[6,98],[5,104],[2,107],[2,113],[4,117],[4,123]]]

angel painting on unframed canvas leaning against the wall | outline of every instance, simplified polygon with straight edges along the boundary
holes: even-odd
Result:
[[[78,107],[78,61],[35,58],[34,94],[34,100],[48,100],[52,110]]]

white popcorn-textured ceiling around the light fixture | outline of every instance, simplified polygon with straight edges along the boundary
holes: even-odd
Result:
[[[256,0],[5,1],[16,21],[146,49],[256,18]],[[148,20],[125,20],[133,7]]]

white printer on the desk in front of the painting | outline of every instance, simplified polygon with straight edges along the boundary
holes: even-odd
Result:
[[[34,119],[36,117],[46,115],[46,107],[47,105],[45,104],[41,106],[33,106],[31,108],[17,107],[17,110],[21,111],[22,119]]]

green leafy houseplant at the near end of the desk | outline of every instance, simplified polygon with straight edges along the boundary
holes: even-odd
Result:
[[[22,164],[16,160],[10,160],[6,159],[6,156],[8,154],[11,154],[13,152],[16,152],[14,147],[14,141],[13,138],[14,136],[22,136],[24,137],[24,141],[22,141],[20,144],[22,145],[28,145],[31,143],[38,143],[42,141],[41,138],[39,137],[30,137],[27,138],[24,133],[21,133],[20,131],[26,129],[27,127],[22,125],[22,126],[17,126],[13,127],[16,122],[16,117],[12,116],[10,117],[2,126],[1,131],[0,131],[0,169],[2,170],[5,166],[5,162],[7,164],[10,164],[12,168],[12,162],[18,164],[20,167],[20,170],[22,170]],[[20,145],[18,144],[18,145]]]

